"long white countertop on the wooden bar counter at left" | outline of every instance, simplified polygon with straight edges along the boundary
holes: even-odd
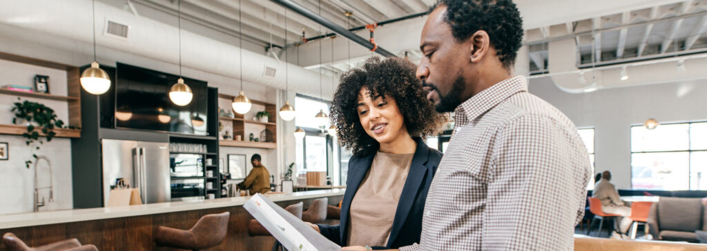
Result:
[[[273,202],[291,201],[344,195],[344,189],[326,189],[287,194],[267,194]],[[164,202],[134,206],[98,207],[93,209],[73,209],[45,211],[27,214],[0,215],[0,229],[41,226],[76,221],[93,221],[106,218],[121,218],[148,214],[164,214],[177,211],[213,209],[227,206],[243,206],[250,197],[229,197],[221,199],[201,199],[189,202]]]

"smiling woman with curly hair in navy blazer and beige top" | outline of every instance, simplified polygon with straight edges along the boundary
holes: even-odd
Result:
[[[442,153],[423,141],[446,115],[425,98],[414,64],[371,57],[341,76],[332,123],[349,160],[339,225],[311,225],[341,246],[397,248],[420,240],[427,191]]]

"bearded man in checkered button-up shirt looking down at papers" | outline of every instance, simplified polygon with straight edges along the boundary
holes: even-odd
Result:
[[[420,243],[400,250],[573,250],[590,160],[575,125],[511,75],[522,35],[511,0],[433,8],[417,76],[438,112],[455,112],[455,130]]]

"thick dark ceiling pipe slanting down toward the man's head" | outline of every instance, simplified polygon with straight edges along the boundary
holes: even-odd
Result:
[[[359,37],[358,35],[352,33],[351,31],[347,30],[346,28],[343,28],[336,23],[333,23],[332,21],[327,20],[326,18],[323,18],[322,16],[319,16],[317,13],[314,13],[313,11],[308,10],[307,8],[300,6],[299,4],[295,3],[292,0],[270,0],[273,1],[276,4],[280,4],[281,6],[284,6],[285,8],[289,8],[290,10],[299,13],[302,16],[305,16],[305,18],[310,18],[312,21],[315,21],[319,23],[320,25],[324,25],[326,28],[329,30],[334,30],[334,33],[338,33],[339,35],[342,35],[346,38],[348,38],[351,41],[356,42],[358,45],[362,45],[363,47],[366,47],[367,49],[373,49],[376,47],[372,42],[369,42],[363,37]],[[375,52],[378,54],[381,54],[383,57],[396,57],[395,54],[392,54],[391,52],[388,52],[386,49],[383,49],[382,47],[378,47],[378,49],[375,49]]]

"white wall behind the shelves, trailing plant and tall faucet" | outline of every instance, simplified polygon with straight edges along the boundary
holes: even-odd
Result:
[[[18,85],[34,87],[35,74],[49,76],[49,93],[66,95],[66,71],[49,69],[30,64],[21,64],[0,59],[0,86]],[[57,117],[69,123],[69,110],[65,101],[24,98],[51,107]],[[14,95],[0,94],[0,124],[12,124],[10,110],[17,102]],[[7,142],[10,148],[9,160],[0,160],[0,214],[14,214],[33,210],[34,165],[25,167],[25,160],[33,160],[32,154],[47,156],[54,169],[54,202],[49,203],[49,191],[40,191],[47,206],[40,210],[71,209],[74,204],[71,190],[71,139],[54,138],[45,142],[38,151],[32,151],[25,144],[23,136],[0,134],[0,142]],[[37,166],[39,187],[49,186],[49,169],[42,160]]]

